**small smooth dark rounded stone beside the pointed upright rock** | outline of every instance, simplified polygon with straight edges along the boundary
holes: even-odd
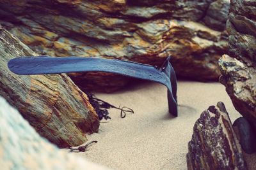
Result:
[[[233,124],[237,128],[240,144],[244,152],[252,154],[256,152],[256,133],[253,132],[253,127],[250,125],[246,118],[237,118]]]

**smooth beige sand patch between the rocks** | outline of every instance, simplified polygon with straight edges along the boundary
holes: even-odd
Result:
[[[179,81],[177,118],[168,113],[166,87],[157,83],[96,95],[135,111],[120,118],[120,111],[109,110],[112,119],[100,124],[99,133],[88,136],[98,143],[87,152],[74,153],[112,169],[187,169],[188,142],[202,111],[222,101],[232,122],[240,117],[220,83]]]

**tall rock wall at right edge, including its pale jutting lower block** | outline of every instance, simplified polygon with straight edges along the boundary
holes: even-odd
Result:
[[[220,59],[221,78],[232,103],[256,129],[256,3],[231,1],[229,55]]]

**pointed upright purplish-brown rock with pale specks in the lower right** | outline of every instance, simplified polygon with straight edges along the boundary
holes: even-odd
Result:
[[[188,169],[246,169],[241,146],[223,103],[205,110],[188,143]]]

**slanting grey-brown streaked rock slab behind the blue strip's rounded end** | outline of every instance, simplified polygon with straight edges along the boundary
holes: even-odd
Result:
[[[37,55],[0,26],[0,95],[20,111],[35,130],[60,147],[77,146],[86,132],[97,132],[99,119],[88,97],[66,74],[20,76],[8,60]]]

